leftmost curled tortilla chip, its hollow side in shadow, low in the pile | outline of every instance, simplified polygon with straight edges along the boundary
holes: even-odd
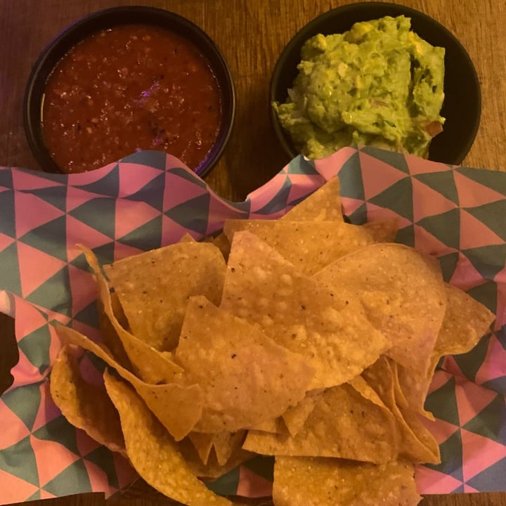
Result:
[[[119,416],[104,388],[84,381],[79,363],[70,349],[63,346],[53,363],[50,391],[63,416],[92,439],[126,456]]]

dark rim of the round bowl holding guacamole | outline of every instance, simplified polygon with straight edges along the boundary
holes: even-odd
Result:
[[[430,16],[429,14],[424,13],[422,11],[418,11],[413,7],[408,7],[403,4],[394,4],[393,2],[386,2],[386,1],[359,1],[356,3],[345,4],[343,6],[331,8],[328,11],[316,15],[315,18],[307,22],[297,32],[295,32],[292,38],[288,41],[286,46],[283,48],[283,51],[281,51],[280,55],[278,56],[278,60],[274,65],[273,73],[271,74],[271,79],[268,88],[269,115],[271,117],[271,124],[273,126],[275,136],[278,138],[281,147],[283,148],[285,153],[291,158],[300,155],[300,152],[296,150],[292,145],[292,141],[290,139],[289,134],[287,134],[287,132],[280,125],[278,115],[276,114],[272,106],[274,102],[278,101],[276,100],[276,97],[279,95],[278,82],[280,81],[280,76],[285,72],[284,67],[287,56],[289,56],[292,53],[292,51],[294,51],[294,49],[297,49],[298,46],[301,46],[304,41],[312,37],[314,34],[318,33],[317,31],[315,31],[315,28],[318,27],[321,24],[321,22],[325,21],[327,18],[330,18],[333,15],[346,14],[359,10],[364,11],[364,15],[361,18],[361,20],[365,21],[377,19],[377,16],[374,15],[368,16],[366,13],[368,10],[372,10],[374,8],[385,8],[385,9],[392,9],[392,11],[397,11],[396,13],[392,13],[391,14],[392,16],[394,15],[406,15],[408,17],[416,16],[417,19],[422,19],[425,22],[428,22],[429,24],[433,25],[434,27],[437,27],[437,29],[441,32],[441,34],[443,34],[444,37],[446,37],[446,39],[451,41],[455,46],[455,48],[458,48],[460,55],[462,56],[462,58],[465,59],[467,63],[467,68],[469,70],[469,74],[472,76],[472,86],[474,86],[476,117],[474,118],[474,123],[472,127],[469,129],[467,141],[460,148],[459,155],[449,162],[448,161],[443,162],[455,165],[460,164],[462,160],[464,160],[464,158],[467,156],[469,150],[471,149],[474,143],[481,120],[481,87],[479,83],[479,77],[476,72],[476,67],[474,67],[474,63],[472,62],[469,53],[467,53],[466,48],[462,45],[460,40],[457,37],[455,37],[455,35],[452,32],[450,32],[450,30],[448,30],[446,26],[442,25],[441,22],[432,18],[432,16]],[[384,13],[383,15],[389,14]],[[351,25],[353,25],[353,22],[351,22]],[[430,155],[429,160],[434,162],[441,161],[441,160],[432,160],[432,158],[430,158]]]

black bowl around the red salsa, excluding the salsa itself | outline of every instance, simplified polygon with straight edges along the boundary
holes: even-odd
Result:
[[[160,8],[125,6],[92,13],[70,25],[44,48],[32,68],[25,90],[23,119],[27,141],[34,157],[44,171],[62,172],[46,148],[41,122],[44,90],[53,68],[75,44],[92,33],[117,25],[134,23],[154,25],[171,30],[196,46],[202,56],[208,60],[221,89],[221,126],[211,152],[195,169],[195,173],[203,177],[218,162],[230,137],[235,116],[235,91],[232,77],[219,48],[200,27],[181,15]],[[129,153],[125,153],[125,155],[127,154]]]

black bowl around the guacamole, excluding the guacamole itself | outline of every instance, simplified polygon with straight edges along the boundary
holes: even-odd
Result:
[[[481,93],[478,76],[465,48],[443,25],[413,8],[387,2],[361,2],[327,11],[305,25],[287,44],[274,67],[269,90],[271,119],[276,136],[287,155],[299,152],[292,145],[290,134],[283,129],[272,108],[273,102],[284,103],[287,89],[297,77],[297,64],[304,42],[317,34],[346,32],[353,23],[406,15],[411,18],[413,32],[432,46],[446,49],[444,91],[441,116],[446,118],[443,132],[429,146],[429,160],[460,164],[472,146],[481,116]]]

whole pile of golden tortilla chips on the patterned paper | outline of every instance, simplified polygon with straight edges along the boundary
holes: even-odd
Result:
[[[187,505],[275,455],[279,506],[416,505],[414,466],[439,462],[424,410],[436,364],[493,314],[446,285],[396,223],[345,223],[338,179],[275,221],[100,266],[103,342],[56,327],[51,394],[67,419]],[[80,373],[83,349],[103,384]]]

